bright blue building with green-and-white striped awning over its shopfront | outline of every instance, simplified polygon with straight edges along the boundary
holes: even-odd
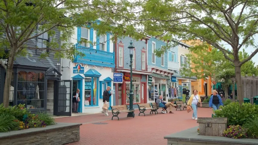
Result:
[[[163,101],[168,101],[169,88],[171,87],[171,76],[173,71],[168,70],[168,56],[171,55],[168,52],[165,52],[161,57],[157,57],[155,54],[156,49],[160,49],[162,46],[166,46],[168,42],[160,40],[158,38],[151,37],[148,40],[148,71],[152,72],[148,76],[148,91],[149,99],[148,102],[155,102],[155,98],[158,98],[159,95],[163,96]]]

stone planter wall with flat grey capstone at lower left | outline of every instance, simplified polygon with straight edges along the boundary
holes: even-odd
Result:
[[[1,145],[63,145],[80,140],[80,125],[57,123],[42,128],[0,133]]]

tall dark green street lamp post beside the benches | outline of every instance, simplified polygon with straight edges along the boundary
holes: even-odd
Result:
[[[130,73],[130,98],[129,98],[129,110],[134,110],[133,107],[133,52],[134,52],[134,45],[133,42],[130,42],[130,45],[128,46],[130,50],[130,68],[131,68],[131,73]],[[134,111],[128,112],[127,117],[134,117]]]

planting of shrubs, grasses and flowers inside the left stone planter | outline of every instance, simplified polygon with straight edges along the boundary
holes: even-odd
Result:
[[[47,113],[31,114],[24,105],[5,108],[0,105],[0,132],[24,130],[28,128],[46,127],[56,124]]]

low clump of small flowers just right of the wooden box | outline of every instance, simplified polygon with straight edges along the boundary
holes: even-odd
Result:
[[[224,137],[229,138],[247,138],[247,129],[240,125],[229,126],[222,134]]]

